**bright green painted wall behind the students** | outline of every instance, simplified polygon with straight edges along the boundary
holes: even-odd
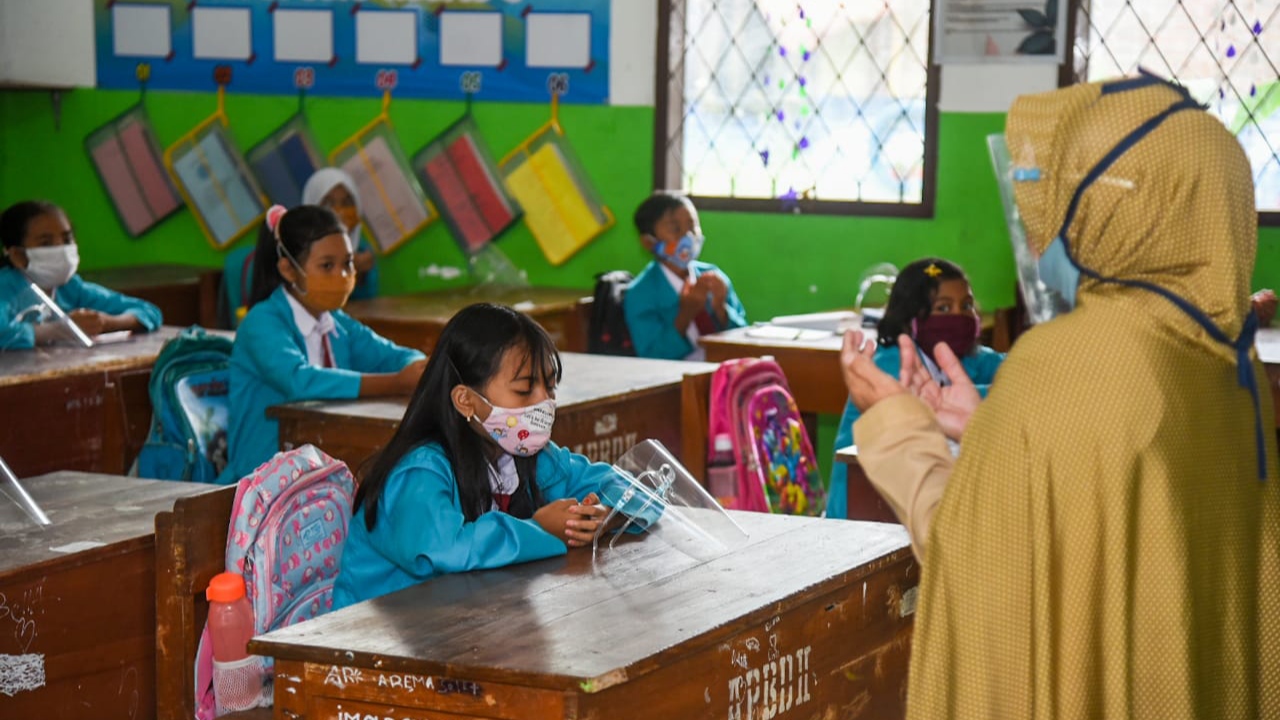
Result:
[[[61,127],[55,129],[47,92],[0,92],[0,205],[46,197],[67,208],[86,268],[136,263],[220,264],[220,252],[202,237],[186,210],[140,240],[128,238],[83,151],[93,128],[137,101],[137,94],[76,90],[63,96]],[[152,92],[147,110],[163,143],[182,136],[214,109],[212,94]],[[237,96],[227,101],[232,133],[247,149],[289,118],[292,97]],[[307,118],[317,140],[333,147],[379,111],[378,100],[308,99]],[[390,115],[402,145],[415,151],[462,113],[458,102],[397,100]],[[475,106],[490,149],[502,155],[548,119],[549,109],[527,104]],[[1004,115],[943,114],[938,152],[938,193],[933,219],[836,215],[705,213],[705,258],[733,278],[755,319],[847,306],[859,275],[878,261],[906,263],[941,255],[969,270],[979,304],[1007,305],[1012,261],[987,161],[984,136],[998,132]],[[536,284],[589,288],[602,269],[639,269],[645,258],[630,227],[630,214],[649,192],[653,109],[567,105],[561,124],[618,224],[559,268],[550,266],[532,236],[518,225],[502,237],[502,250]],[[247,242],[247,241],[242,241]],[[431,264],[463,266],[465,259],[443,223],[436,223],[383,259],[387,293],[440,287],[426,277]],[[1258,284],[1280,284],[1280,228],[1263,228]],[[461,284],[467,279],[452,281]]]

